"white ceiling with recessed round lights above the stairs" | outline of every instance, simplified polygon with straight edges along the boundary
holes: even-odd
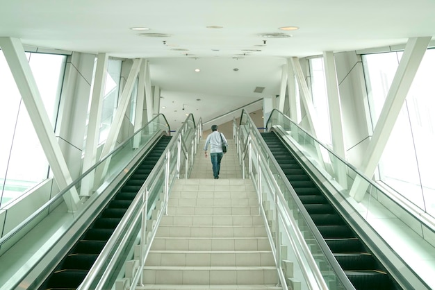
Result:
[[[150,30],[131,31],[136,26]],[[173,129],[186,112],[208,121],[279,94],[286,58],[434,35],[432,0],[0,0],[0,36],[49,49],[147,58]],[[255,87],[265,89],[258,94]]]

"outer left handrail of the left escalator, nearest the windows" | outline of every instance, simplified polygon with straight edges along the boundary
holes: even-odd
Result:
[[[44,212],[44,210],[47,210],[47,208],[49,208],[51,205],[53,205],[56,201],[58,201],[59,198],[62,198],[64,194],[66,194],[70,189],[72,189],[72,187],[75,187],[76,185],[78,185],[81,180],[83,180],[83,178],[85,178],[85,176],[87,176],[90,172],[94,171],[97,167],[99,167],[99,165],[101,165],[103,162],[106,162],[106,160],[108,160],[108,158],[110,158],[113,154],[115,154],[118,150],[120,150],[120,148],[122,148],[124,146],[124,144],[131,142],[131,139],[133,139],[136,134],[138,132],[140,132],[140,130],[143,130],[144,128],[146,128],[150,123],[152,123],[155,119],[159,118],[159,117],[163,117],[166,121],[166,118],[163,114],[158,114],[156,117],[154,117],[153,119],[151,119],[151,121],[149,121],[145,126],[143,126],[142,128],[140,128],[139,130],[137,130],[133,136],[129,137],[128,139],[126,139],[124,142],[122,142],[120,145],[118,145],[116,148],[113,149],[113,151],[110,151],[110,153],[108,153],[106,156],[102,157],[101,160],[99,162],[97,162],[96,164],[94,164],[92,167],[90,167],[90,169],[88,169],[87,171],[85,171],[83,174],[81,174],[81,176],[79,176],[78,178],[76,178],[76,180],[74,180],[72,183],[70,183],[67,187],[65,187],[65,189],[61,190],[58,192],[58,194],[55,194],[49,201],[47,201],[46,203],[44,203],[38,210],[36,210],[35,212],[33,212],[30,216],[28,216],[26,219],[24,219],[24,221],[22,221],[21,223],[19,223],[17,226],[15,226],[15,228],[13,228],[13,230],[10,230],[10,232],[8,232],[7,234],[5,234],[3,237],[0,238],[0,247],[5,244],[9,239],[11,239],[12,237],[15,236],[15,234],[17,234],[20,230],[22,230],[23,228],[26,227],[26,225],[28,225],[29,223],[31,223],[33,221],[33,219],[35,219],[36,217],[38,217],[40,214],[42,214],[42,212]],[[167,121],[166,121],[167,122]],[[167,123],[167,128],[168,128],[168,134],[170,133],[169,130],[169,123]],[[156,135],[158,134],[158,132],[156,132]],[[146,145],[146,144],[145,144]]]

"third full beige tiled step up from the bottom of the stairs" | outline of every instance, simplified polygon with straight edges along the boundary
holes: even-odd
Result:
[[[270,250],[270,243],[267,237],[156,237],[151,250]]]

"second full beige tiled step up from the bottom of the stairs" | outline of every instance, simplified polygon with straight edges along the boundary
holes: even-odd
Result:
[[[271,250],[151,250],[147,266],[274,266]]]

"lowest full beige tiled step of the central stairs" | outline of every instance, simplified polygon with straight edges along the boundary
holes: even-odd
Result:
[[[277,284],[274,266],[145,266],[147,284]]]

